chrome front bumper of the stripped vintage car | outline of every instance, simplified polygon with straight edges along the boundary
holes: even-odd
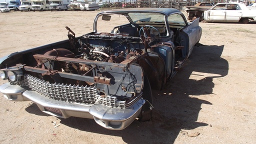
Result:
[[[128,108],[116,108],[103,104],[68,102],[51,99],[26,87],[9,83],[0,85],[0,92],[9,100],[33,101],[41,111],[50,115],[62,118],[70,116],[93,118],[100,126],[113,130],[127,127],[140,114],[141,107],[145,103],[145,100],[140,98]]]

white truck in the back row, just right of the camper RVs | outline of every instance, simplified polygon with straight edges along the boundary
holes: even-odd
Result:
[[[50,0],[50,11],[52,10],[67,10],[70,8],[70,0]]]

